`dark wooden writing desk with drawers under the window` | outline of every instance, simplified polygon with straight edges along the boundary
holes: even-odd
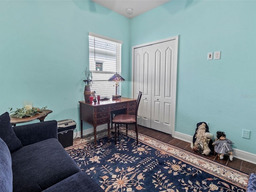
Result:
[[[108,139],[110,135],[110,113],[111,111],[126,109],[126,114],[135,114],[136,99],[124,98],[110,99],[97,103],[86,103],[80,101],[80,124],[81,138],[83,137],[83,121],[93,125],[94,142],[96,144],[96,127],[108,124]]]

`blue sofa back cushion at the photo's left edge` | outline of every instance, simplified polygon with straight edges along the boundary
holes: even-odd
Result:
[[[12,158],[8,146],[0,138],[0,191],[12,192]]]

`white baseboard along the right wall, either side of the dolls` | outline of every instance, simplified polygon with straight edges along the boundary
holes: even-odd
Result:
[[[183,134],[183,133],[180,133],[180,132],[175,132],[173,137],[177,138],[177,139],[180,139],[180,140],[183,140],[183,141],[186,141],[186,142],[190,142],[190,143],[193,140],[192,136],[186,135],[186,134]],[[239,150],[239,149],[234,149],[233,155],[234,155],[235,158],[238,158],[238,159],[256,164],[256,154],[252,154],[252,153],[242,151],[242,150]]]

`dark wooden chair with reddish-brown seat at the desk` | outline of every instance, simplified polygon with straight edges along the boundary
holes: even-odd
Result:
[[[136,139],[138,144],[137,114],[138,114],[138,108],[139,108],[141,96],[142,96],[142,92],[140,91],[138,94],[138,99],[136,101],[135,115],[118,114],[114,116],[112,121],[115,124],[115,144],[116,144],[116,131],[118,131],[118,136],[119,136],[119,130],[126,130],[126,135],[127,135],[128,124],[135,124]],[[119,125],[122,125],[122,124],[126,124],[126,129],[122,129],[119,127]],[[118,125],[118,127],[116,127],[116,125]]]

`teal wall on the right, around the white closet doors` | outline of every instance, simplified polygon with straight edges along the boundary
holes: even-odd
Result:
[[[256,154],[256,1],[172,0],[131,20],[131,46],[179,35],[175,131],[222,130]],[[207,60],[221,51],[220,60]],[[250,140],[242,129],[251,130]]]

